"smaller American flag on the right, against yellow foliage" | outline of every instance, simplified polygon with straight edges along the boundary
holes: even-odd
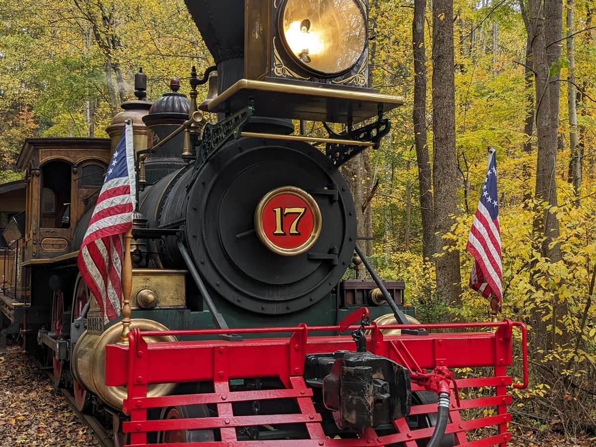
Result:
[[[503,267],[494,149],[489,150],[488,171],[468,237],[467,249],[474,257],[470,287],[488,299],[496,297],[500,309],[503,302]]]

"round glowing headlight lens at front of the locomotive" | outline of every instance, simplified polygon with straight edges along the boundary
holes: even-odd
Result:
[[[367,45],[360,0],[287,0],[280,29],[294,60],[326,76],[351,69]]]

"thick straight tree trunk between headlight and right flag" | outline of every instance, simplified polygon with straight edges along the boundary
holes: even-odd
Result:
[[[443,252],[442,235],[451,230],[457,213],[457,163],[455,157],[455,78],[453,1],[433,1],[433,190],[437,233],[437,296],[446,305],[460,303],[460,252]],[[444,314],[445,315],[445,314]],[[446,315],[446,318],[449,318]]]

